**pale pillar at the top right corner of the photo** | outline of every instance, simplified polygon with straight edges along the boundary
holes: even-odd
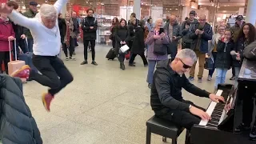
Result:
[[[256,7],[256,1],[255,0],[248,0],[247,10],[246,10],[246,22],[252,23],[254,26],[256,26],[256,10],[254,10]]]

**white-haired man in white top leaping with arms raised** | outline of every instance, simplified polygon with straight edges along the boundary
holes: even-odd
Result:
[[[73,76],[60,58],[57,57],[61,47],[60,32],[58,29],[58,14],[67,0],[58,0],[54,6],[43,4],[35,18],[26,18],[11,6],[2,4],[0,13],[9,14],[9,18],[18,25],[30,29],[34,38],[33,64],[42,73],[30,70],[29,66],[22,66],[21,70],[10,74],[13,77],[30,78],[43,86],[48,86],[48,93],[42,94],[42,102],[47,111],[50,111],[50,102],[54,95],[73,81]]]

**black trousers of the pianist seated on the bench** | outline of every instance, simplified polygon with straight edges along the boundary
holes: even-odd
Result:
[[[203,109],[202,107],[194,105],[193,102],[185,101],[185,100],[183,100],[183,102],[189,103],[192,106],[195,106],[198,109],[205,111],[205,109]],[[157,116],[159,118],[170,120],[171,122],[174,122],[179,126],[185,127],[186,130],[191,130],[192,126],[199,124],[199,122],[201,121],[201,118],[199,118],[198,116],[195,116],[190,112],[186,112],[183,110],[170,110],[166,114],[161,114],[161,115],[157,114]]]

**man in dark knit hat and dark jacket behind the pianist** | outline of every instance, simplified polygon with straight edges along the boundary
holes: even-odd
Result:
[[[192,39],[189,38],[189,35],[194,31],[195,26],[198,25],[198,20],[195,19],[196,12],[194,10],[190,11],[189,18],[182,22],[181,31],[182,31],[182,49],[190,48]]]

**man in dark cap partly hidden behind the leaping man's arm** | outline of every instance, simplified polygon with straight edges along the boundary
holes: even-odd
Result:
[[[30,2],[30,9],[26,10],[26,12],[23,13],[24,16],[27,18],[34,18],[35,15],[38,13],[38,3],[37,2]],[[28,45],[28,50],[29,52],[33,52],[33,44],[34,44],[34,39],[30,33],[29,29],[25,29],[25,34],[27,37],[27,45]]]

